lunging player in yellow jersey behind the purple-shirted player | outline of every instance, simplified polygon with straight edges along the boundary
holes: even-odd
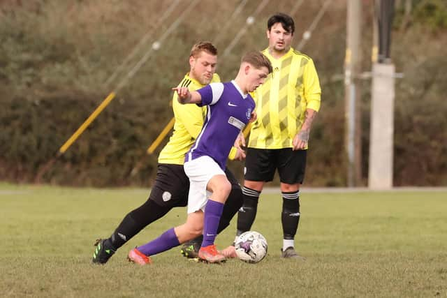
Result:
[[[188,87],[194,91],[205,87],[210,82],[220,82],[219,75],[215,73],[217,66],[217,49],[209,42],[200,42],[193,45],[189,57],[189,73],[178,87]],[[189,178],[183,169],[186,152],[198,137],[206,113],[206,107],[197,105],[182,105],[177,100],[177,92],[173,96],[173,110],[175,116],[174,132],[168,144],[159,154],[159,165],[155,184],[147,201],[137,209],[129,212],[118,225],[115,232],[108,239],[98,239],[92,262],[105,264],[110,257],[135,234],[150,223],[163,217],[174,207],[186,207],[188,204]],[[242,150],[233,147],[230,157],[240,159]],[[228,180],[232,186],[228,200],[223,208],[218,232],[230,224],[231,218],[242,206],[242,191],[237,179],[226,169]],[[197,248],[189,251],[191,255],[198,251],[202,239],[197,239]]]

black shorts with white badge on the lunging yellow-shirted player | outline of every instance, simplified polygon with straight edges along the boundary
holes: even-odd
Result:
[[[240,189],[239,181],[228,168],[225,174],[232,188]],[[149,200],[154,200],[160,206],[185,207],[188,205],[188,193],[189,178],[183,165],[159,164]]]

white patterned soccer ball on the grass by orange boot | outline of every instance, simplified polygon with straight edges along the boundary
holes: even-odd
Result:
[[[258,232],[240,234],[235,241],[237,258],[247,263],[261,262],[267,255],[267,240]]]

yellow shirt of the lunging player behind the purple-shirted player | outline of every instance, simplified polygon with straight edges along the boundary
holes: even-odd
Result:
[[[214,73],[211,82],[220,82],[220,77]],[[188,87],[194,91],[205,87],[197,80],[186,74],[178,87]],[[173,135],[169,138],[168,144],[159,154],[159,163],[168,163],[174,165],[183,165],[184,156],[193,145],[196,137],[202,130],[203,119],[206,116],[207,107],[198,107],[198,105],[182,105],[177,100],[177,92],[173,96],[173,110],[175,117]]]

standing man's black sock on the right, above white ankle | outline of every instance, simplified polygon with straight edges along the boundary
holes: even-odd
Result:
[[[300,191],[282,193],[281,223],[284,239],[294,239],[300,222]]]

